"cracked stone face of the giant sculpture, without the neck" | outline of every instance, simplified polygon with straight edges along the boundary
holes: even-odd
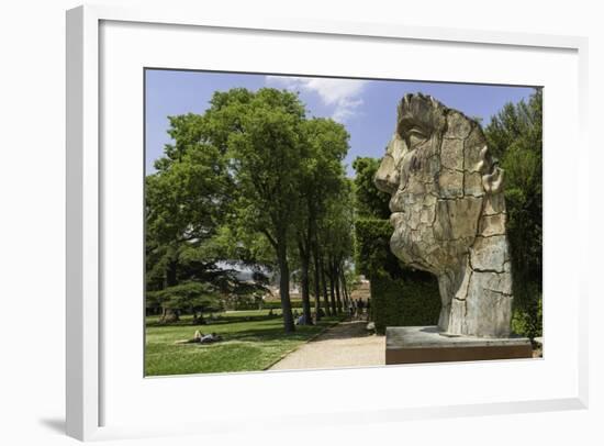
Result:
[[[421,94],[401,101],[374,179],[392,196],[394,255],[438,275],[468,253],[482,211],[483,146],[478,125],[461,113]]]

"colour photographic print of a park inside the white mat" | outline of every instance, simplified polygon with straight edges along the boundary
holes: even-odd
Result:
[[[145,376],[543,356],[541,88],[144,76]]]

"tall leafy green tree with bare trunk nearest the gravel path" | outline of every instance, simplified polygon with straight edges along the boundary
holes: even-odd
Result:
[[[226,147],[236,187],[228,224],[264,234],[275,250],[287,332],[294,331],[288,242],[299,215],[304,118],[297,94],[265,88],[214,93],[203,120],[206,142]]]

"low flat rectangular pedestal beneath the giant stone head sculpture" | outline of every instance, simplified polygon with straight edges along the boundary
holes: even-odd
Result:
[[[385,364],[532,358],[527,337],[447,336],[436,326],[385,328]]]

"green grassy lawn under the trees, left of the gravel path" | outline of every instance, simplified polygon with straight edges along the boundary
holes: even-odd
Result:
[[[157,319],[146,321],[146,376],[264,370],[338,321],[324,317],[318,325],[297,326],[294,333],[284,333],[281,317],[269,317],[268,310],[225,312],[215,321],[209,320],[208,325],[197,326],[190,316],[174,325],[158,325]],[[175,344],[192,338],[195,330],[217,333],[223,341]]]

